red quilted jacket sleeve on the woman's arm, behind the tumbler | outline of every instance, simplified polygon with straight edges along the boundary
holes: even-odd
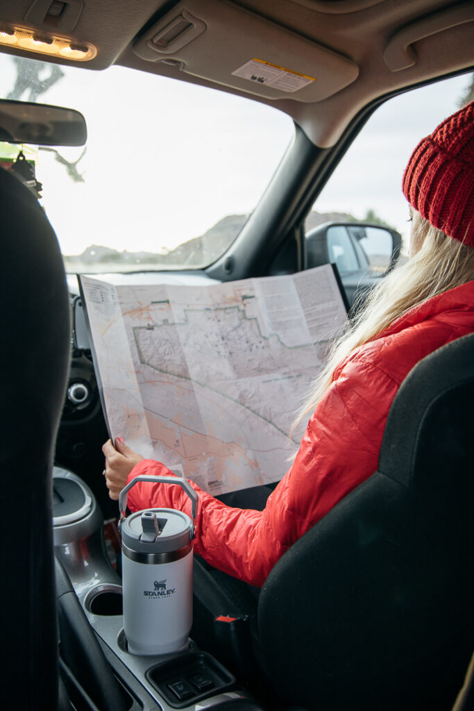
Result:
[[[355,358],[346,363],[308,423],[293,466],[263,511],[230,508],[190,482],[200,499],[196,552],[219,570],[261,587],[293,542],[377,469],[397,387],[370,362]],[[129,481],[139,474],[173,476],[163,464],[149,459],[134,467]],[[180,487],[136,483],[129,492],[129,508],[150,506],[190,514],[190,501]]]

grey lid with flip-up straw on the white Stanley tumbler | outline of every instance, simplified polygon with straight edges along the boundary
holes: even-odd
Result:
[[[189,545],[193,522],[183,511],[148,508],[122,520],[122,541],[137,553],[168,553]]]

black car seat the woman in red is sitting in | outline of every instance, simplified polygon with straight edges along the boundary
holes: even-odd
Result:
[[[378,471],[271,571],[258,653],[279,698],[451,709],[474,648],[473,402],[474,334],[411,370]]]

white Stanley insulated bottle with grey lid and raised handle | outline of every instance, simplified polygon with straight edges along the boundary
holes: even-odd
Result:
[[[136,481],[181,486],[193,503],[193,520],[171,508],[149,508],[124,518],[127,493]],[[198,503],[198,494],[181,477],[137,476],[120,493],[124,633],[131,654],[165,654],[188,647]]]

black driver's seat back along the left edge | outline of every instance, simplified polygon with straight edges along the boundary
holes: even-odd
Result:
[[[0,168],[2,675],[16,708],[55,709],[51,508],[70,315],[58,242],[36,198]]]

